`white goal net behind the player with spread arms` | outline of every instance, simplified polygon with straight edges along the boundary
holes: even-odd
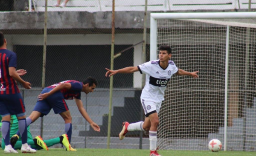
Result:
[[[157,19],[156,34],[178,68],[200,71],[198,79],[171,78],[159,113],[160,149],[209,150],[219,139],[222,150],[256,151],[256,16]]]

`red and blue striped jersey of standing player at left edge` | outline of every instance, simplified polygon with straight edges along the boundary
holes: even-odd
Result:
[[[20,90],[9,74],[9,67],[17,66],[17,55],[7,49],[0,49],[0,95],[16,94]]]

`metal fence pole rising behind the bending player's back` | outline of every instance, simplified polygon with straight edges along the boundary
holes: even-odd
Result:
[[[48,0],[45,0],[42,89],[45,87],[46,43],[47,43],[47,3],[48,3]],[[44,130],[44,118],[41,118],[41,128],[40,128],[40,135],[41,135],[41,137],[43,137],[43,130]]]

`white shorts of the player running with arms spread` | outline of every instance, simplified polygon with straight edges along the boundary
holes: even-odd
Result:
[[[153,113],[159,113],[162,102],[154,102],[142,98],[140,98],[140,101],[146,117]]]

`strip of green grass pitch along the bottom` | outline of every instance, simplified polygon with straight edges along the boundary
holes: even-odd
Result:
[[[18,154],[8,154],[8,156],[18,156],[23,153],[17,150]],[[162,156],[256,156],[256,152],[242,151],[189,151],[189,150],[159,150]],[[0,150],[0,156],[3,156],[3,150]],[[130,150],[130,149],[77,149],[76,152],[67,152],[63,149],[49,149],[49,151],[38,150],[37,156],[149,156],[148,150]]]

